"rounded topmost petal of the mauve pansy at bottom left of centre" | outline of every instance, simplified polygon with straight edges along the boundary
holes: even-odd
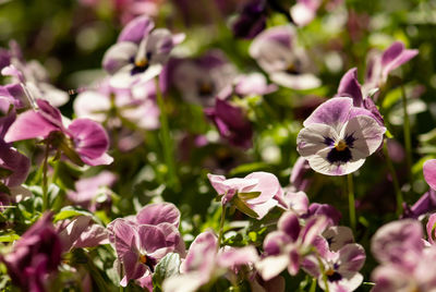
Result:
[[[145,206],[137,215],[136,221],[140,224],[157,226],[168,222],[179,227],[180,211],[171,203],[157,203]]]

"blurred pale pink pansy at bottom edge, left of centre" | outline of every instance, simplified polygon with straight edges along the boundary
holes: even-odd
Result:
[[[253,246],[235,248],[225,246],[218,251],[218,239],[206,231],[197,235],[180,266],[180,275],[166,279],[165,292],[194,292],[226,270],[238,273],[240,267],[258,259]]]

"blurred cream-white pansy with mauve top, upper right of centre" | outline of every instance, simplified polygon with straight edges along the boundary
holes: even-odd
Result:
[[[250,46],[250,56],[272,82],[293,89],[320,86],[305,51],[298,47],[292,26],[276,26],[259,34]]]

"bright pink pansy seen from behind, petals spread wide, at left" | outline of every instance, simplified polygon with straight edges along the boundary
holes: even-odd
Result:
[[[4,136],[7,143],[43,137],[75,163],[99,166],[112,162],[112,157],[106,153],[109,137],[101,125],[88,119],[76,119],[64,127],[57,108],[43,99],[37,99],[36,104],[38,110],[28,110],[16,118]]]

